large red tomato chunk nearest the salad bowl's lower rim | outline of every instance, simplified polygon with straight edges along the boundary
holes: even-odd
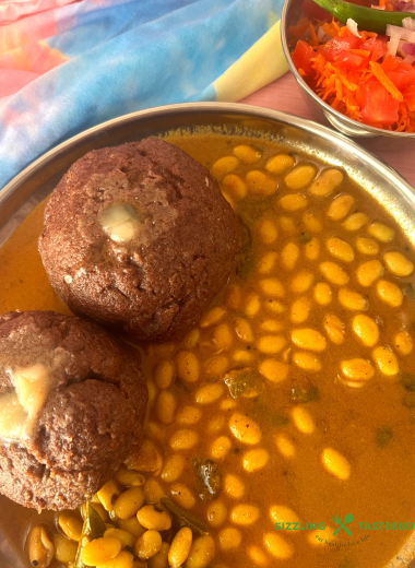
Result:
[[[363,83],[360,96],[360,118],[364,122],[390,126],[398,121],[398,100],[375,76]]]

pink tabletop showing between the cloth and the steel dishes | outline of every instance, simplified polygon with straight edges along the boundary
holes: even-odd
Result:
[[[316,120],[316,115],[313,115],[303,98],[299,86],[289,72],[277,81],[257,91],[257,93],[244,98],[240,103],[272,108],[274,110],[284,110],[292,115]],[[324,125],[327,126],[327,123]],[[402,151],[402,149],[393,149],[393,144],[391,144],[391,147],[388,147],[388,150],[379,150],[376,140],[363,141],[363,139],[360,139],[357,142],[396,169],[396,171],[415,188],[415,140],[408,141],[408,147],[404,151]]]

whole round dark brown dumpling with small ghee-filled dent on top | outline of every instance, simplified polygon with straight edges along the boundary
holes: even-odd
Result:
[[[72,311],[164,341],[199,321],[241,244],[209,170],[151,138],[73,164],[46,206],[38,246]]]

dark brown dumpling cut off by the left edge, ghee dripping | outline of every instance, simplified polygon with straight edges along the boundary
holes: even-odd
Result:
[[[0,493],[25,507],[84,502],[143,438],[140,354],[52,311],[0,316]]]

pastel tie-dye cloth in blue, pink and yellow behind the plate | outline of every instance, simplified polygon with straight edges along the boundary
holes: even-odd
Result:
[[[286,70],[283,0],[0,0],[0,188],[116,116],[238,100]]]

